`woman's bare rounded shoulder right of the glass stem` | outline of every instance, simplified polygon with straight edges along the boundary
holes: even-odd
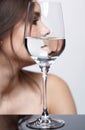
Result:
[[[75,103],[67,83],[50,74],[48,76],[47,98],[50,113],[76,114]]]

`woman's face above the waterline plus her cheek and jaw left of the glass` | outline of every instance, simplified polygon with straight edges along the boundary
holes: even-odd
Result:
[[[6,43],[6,49],[10,55],[16,54],[16,58],[25,62],[28,65],[34,64],[35,62],[31,59],[30,55],[27,53],[26,48],[24,46],[24,28],[25,28],[25,20],[20,20],[13,29],[12,35],[12,47],[10,36],[4,39],[4,43]],[[28,32],[30,30],[30,26],[28,25]],[[40,18],[40,8],[36,4],[34,8],[34,16],[31,27],[31,36],[40,37],[49,33],[48,28],[42,23]],[[10,44],[9,44],[10,43]],[[8,45],[9,44],[9,45]]]

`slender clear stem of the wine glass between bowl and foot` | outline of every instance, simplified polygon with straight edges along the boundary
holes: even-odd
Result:
[[[47,111],[47,76],[50,66],[40,66],[43,80],[43,112],[42,116],[48,116]]]

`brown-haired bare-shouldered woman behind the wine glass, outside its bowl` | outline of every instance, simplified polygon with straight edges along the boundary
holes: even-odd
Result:
[[[0,1],[0,114],[42,113],[41,74],[22,70],[35,64],[23,43],[28,2]],[[37,21],[32,22],[33,35],[37,35]],[[48,75],[47,101],[49,113],[76,113],[67,84],[52,74]]]

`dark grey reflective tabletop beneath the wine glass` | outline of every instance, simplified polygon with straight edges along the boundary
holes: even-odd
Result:
[[[37,118],[40,115],[0,115],[0,130],[32,130],[26,127],[25,120],[28,118]],[[56,120],[62,119],[65,125],[60,130],[85,130],[85,115],[51,115]],[[24,120],[22,120],[22,118]],[[19,121],[21,124],[19,124]],[[19,128],[19,129],[18,129]],[[46,130],[46,129],[45,129]],[[55,129],[56,130],[56,129]],[[58,129],[57,129],[58,130]]]

